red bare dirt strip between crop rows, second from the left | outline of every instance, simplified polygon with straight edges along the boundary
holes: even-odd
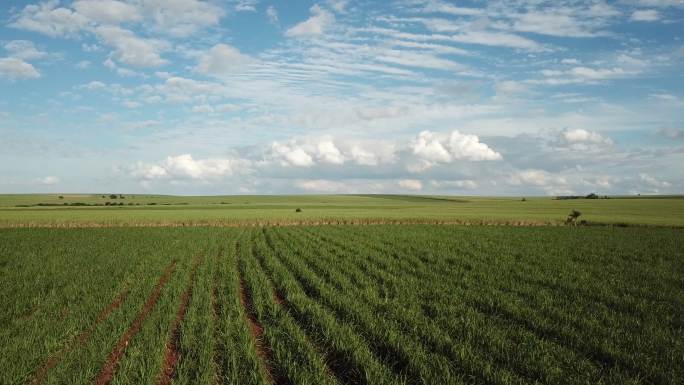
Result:
[[[119,365],[119,361],[121,361],[121,358],[123,357],[124,352],[126,351],[128,342],[133,337],[135,337],[136,334],[140,332],[143,323],[154,309],[154,306],[157,304],[157,300],[161,295],[162,289],[164,288],[164,286],[166,286],[166,283],[171,278],[171,273],[173,273],[173,270],[175,268],[176,261],[174,260],[171,261],[171,263],[169,263],[169,265],[164,270],[162,276],[159,277],[157,285],[152,290],[152,293],[150,293],[150,296],[147,298],[147,301],[143,305],[142,309],[140,309],[140,312],[136,316],[135,320],[133,320],[131,326],[121,336],[116,346],[114,346],[114,349],[109,353],[107,361],[105,361],[104,365],[102,366],[102,369],[100,369],[100,373],[95,378],[95,381],[93,381],[93,384],[107,385],[112,381],[112,377],[114,377],[114,372],[116,372],[116,368]]]

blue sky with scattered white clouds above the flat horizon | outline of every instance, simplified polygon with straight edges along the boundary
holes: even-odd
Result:
[[[0,15],[0,193],[684,187],[683,0],[48,0]]]

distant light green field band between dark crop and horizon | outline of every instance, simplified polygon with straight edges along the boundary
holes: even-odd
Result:
[[[73,206],[83,204],[88,206]],[[105,206],[116,204],[115,206]],[[300,209],[297,212],[296,209]],[[594,223],[684,226],[682,197],[554,200],[405,195],[0,195],[0,227],[244,225],[317,222],[560,224],[571,210]]]

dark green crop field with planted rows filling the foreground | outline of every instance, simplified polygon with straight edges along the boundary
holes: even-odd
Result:
[[[682,235],[3,229],[0,383],[683,383]]]

